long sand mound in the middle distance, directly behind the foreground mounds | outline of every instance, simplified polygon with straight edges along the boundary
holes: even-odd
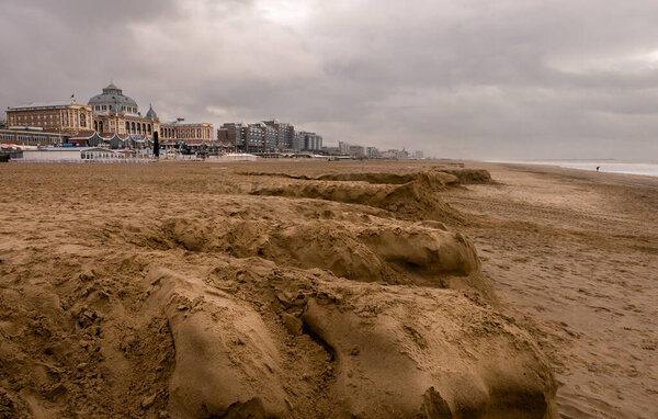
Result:
[[[284,267],[319,268],[361,282],[472,290],[495,301],[473,245],[460,233],[431,223],[365,216],[356,223],[217,218],[213,225],[201,226],[172,218],[152,237],[132,241],[159,249],[259,257]]]

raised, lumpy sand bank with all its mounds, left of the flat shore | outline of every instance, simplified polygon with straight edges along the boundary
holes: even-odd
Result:
[[[56,199],[19,168],[5,190],[1,415],[556,416],[432,177],[248,180],[281,182],[262,196],[214,166],[128,166],[67,167]]]

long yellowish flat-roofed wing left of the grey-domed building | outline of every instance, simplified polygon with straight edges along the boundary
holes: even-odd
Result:
[[[93,129],[91,106],[70,101],[30,103],[7,109],[7,125],[13,127],[41,127],[47,133],[75,135]]]

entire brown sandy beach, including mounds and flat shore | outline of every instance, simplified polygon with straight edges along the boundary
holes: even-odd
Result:
[[[0,165],[0,416],[655,417],[658,189],[598,174]]]

